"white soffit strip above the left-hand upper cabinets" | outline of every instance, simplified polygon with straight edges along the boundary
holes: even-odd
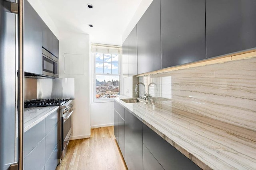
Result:
[[[49,14],[44,9],[44,6],[42,5],[42,0],[28,0],[28,2],[34,8],[34,10],[36,10],[38,15],[42,18],[42,20],[46,23],[46,25],[50,28],[54,35],[59,39],[59,30],[50,18]]]

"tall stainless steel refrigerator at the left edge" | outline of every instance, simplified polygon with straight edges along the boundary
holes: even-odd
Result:
[[[10,2],[0,0],[0,170],[18,162],[18,5]]]

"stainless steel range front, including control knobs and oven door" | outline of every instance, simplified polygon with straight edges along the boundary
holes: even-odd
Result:
[[[69,138],[72,134],[72,113],[74,112],[74,102],[69,100],[60,106],[61,115],[61,158],[64,158],[67,150]]]

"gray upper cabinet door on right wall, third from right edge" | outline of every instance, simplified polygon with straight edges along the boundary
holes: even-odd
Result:
[[[138,74],[161,69],[160,0],[137,23]]]

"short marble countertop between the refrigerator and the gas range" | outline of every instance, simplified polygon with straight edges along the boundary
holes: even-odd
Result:
[[[24,109],[24,132],[44,120],[48,115],[59,109],[59,106],[52,107],[31,107]]]

